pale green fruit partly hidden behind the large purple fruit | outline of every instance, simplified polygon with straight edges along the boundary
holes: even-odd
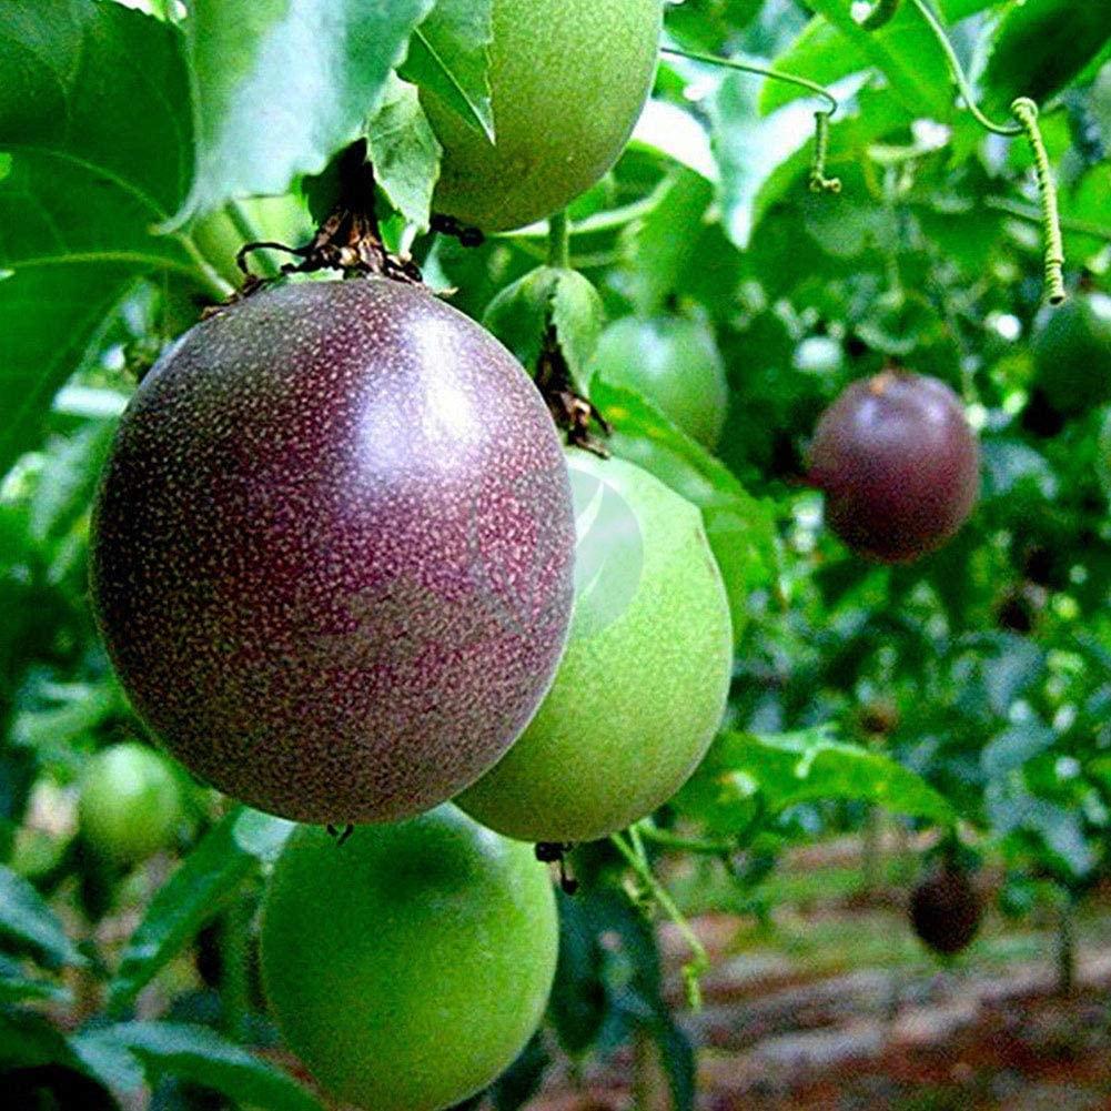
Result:
[[[527,841],[605,837],[671,798],[713,740],[732,669],[699,511],[623,460],[570,464],[585,533],[567,652],[524,734],[458,799]]]

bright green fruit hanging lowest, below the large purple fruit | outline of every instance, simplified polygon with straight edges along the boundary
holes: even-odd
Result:
[[[334,1095],[433,1111],[486,1088],[543,1015],[559,925],[532,850],[453,807],[293,832],[263,902],[262,982]]]

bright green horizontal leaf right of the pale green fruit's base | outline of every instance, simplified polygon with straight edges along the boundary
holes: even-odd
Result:
[[[848,799],[944,825],[957,820],[950,803],[915,772],[834,740],[827,725],[779,735],[723,733],[684,794],[699,800],[702,815],[719,831],[729,830],[734,811],[748,820],[754,797],[768,814],[801,802]]]

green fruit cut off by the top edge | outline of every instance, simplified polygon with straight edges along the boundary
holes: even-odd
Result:
[[[660,0],[494,0],[496,144],[432,93],[436,211],[487,231],[551,216],[617,161],[652,88]]]

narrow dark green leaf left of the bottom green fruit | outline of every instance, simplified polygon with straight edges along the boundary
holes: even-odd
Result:
[[[109,1013],[130,1007],[291,829],[291,822],[239,807],[206,834],[150,901],[128,941],[108,988]]]

